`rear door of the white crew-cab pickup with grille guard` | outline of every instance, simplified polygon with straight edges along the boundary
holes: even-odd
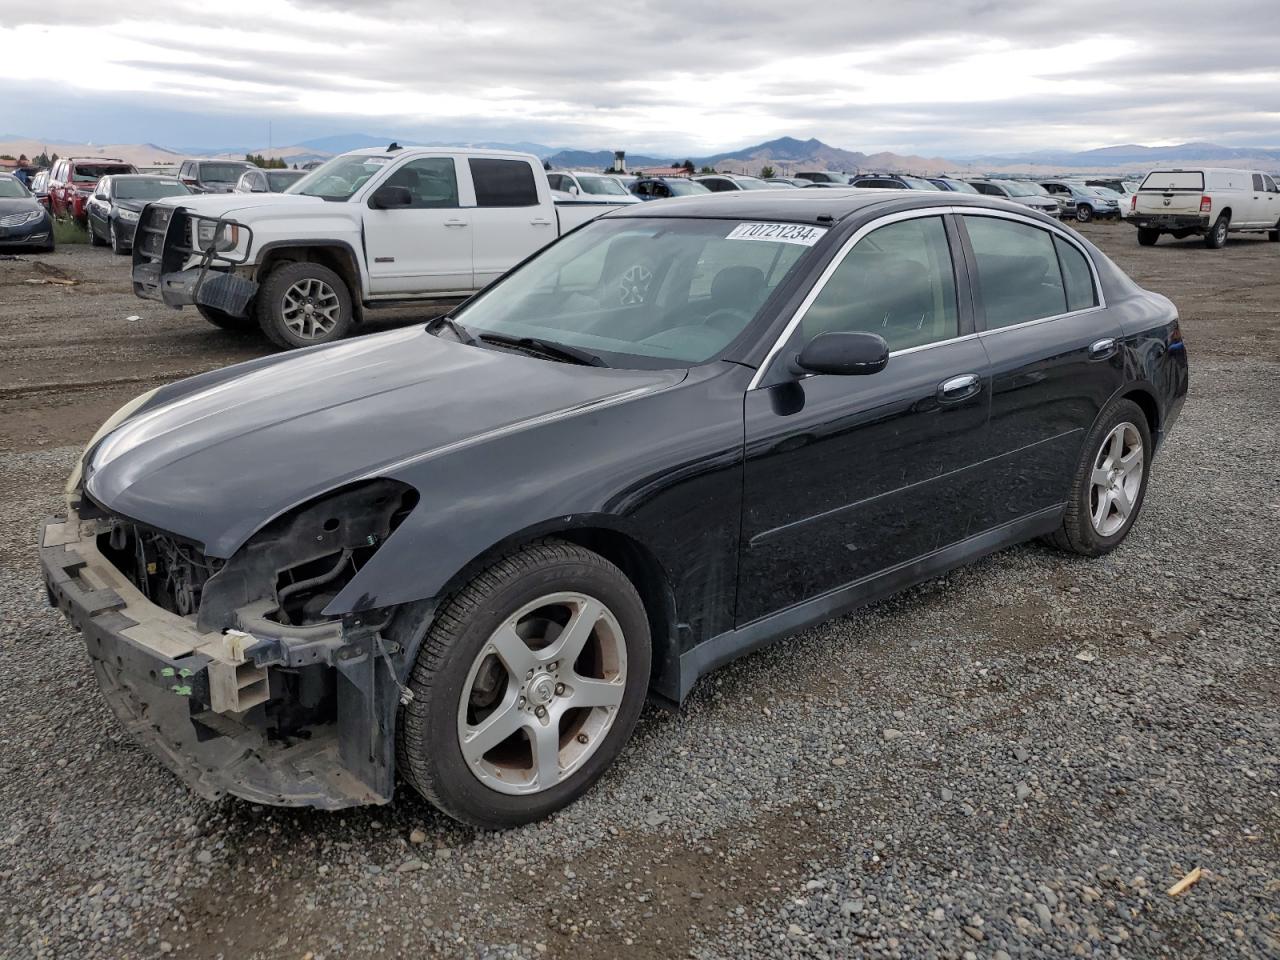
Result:
[[[485,287],[558,236],[550,193],[539,191],[539,177],[527,160],[468,157],[475,192],[475,285]],[[543,180],[545,183],[545,179]]]

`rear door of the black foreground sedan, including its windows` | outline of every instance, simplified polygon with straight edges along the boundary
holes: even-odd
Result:
[[[960,221],[992,378],[980,532],[1066,502],[1084,434],[1123,380],[1123,329],[1065,228],[998,211]]]

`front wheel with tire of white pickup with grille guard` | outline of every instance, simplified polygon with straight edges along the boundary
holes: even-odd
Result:
[[[257,293],[257,323],[278,347],[314,347],[351,330],[351,292],[321,264],[284,264]]]

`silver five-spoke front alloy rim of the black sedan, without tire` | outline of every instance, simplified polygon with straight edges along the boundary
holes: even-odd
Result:
[[[485,641],[458,703],[467,768],[502,794],[539,794],[604,742],[626,690],[617,618],[579,593],[540,596]]]

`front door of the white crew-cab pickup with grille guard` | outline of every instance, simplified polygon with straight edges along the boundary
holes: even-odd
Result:
[[[365,251],[375,297],[466,292],[474,288],[471,211],[465,209],[457,160],[413,156],[366,192]],[[371,206],[381,187],[403,187],[410,205]]]

